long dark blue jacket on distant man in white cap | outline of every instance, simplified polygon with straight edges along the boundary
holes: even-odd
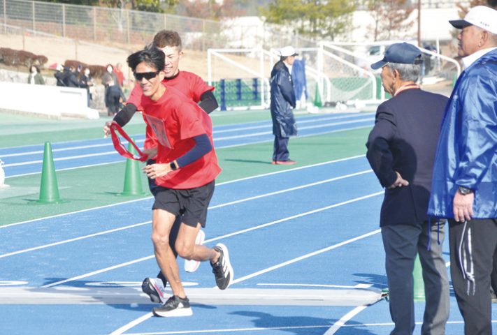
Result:
[[[282,61],[278,61],[271,71],[273,135],[278,137],[297,135],[292,108],[295,108],[294,84],[287,66]]]

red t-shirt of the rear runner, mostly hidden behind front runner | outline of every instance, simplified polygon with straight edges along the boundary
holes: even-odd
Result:
[[[164,78],[162,82],[167,84],[168,87],[178,89],[178,91],[188,98],[191,98],[196,103],[200,101],[200,96],[206,91],[214,91],[215,89],[215,87],[206,84],[201,77],[188,71],[180,71],[175,77]],[[143,107],[141,106],[141,96],[142,90],[140,84],[137,83],[133,88],[133,91],[131,91],[127,103],[132,103],[136,106],[137,110],[143,111]],[[149,149],[151,147],[155,147],[156,145],[157,140],[154,132],[150,126],[147,125],[145,128],[145,143],[143,144],[143,148]]]

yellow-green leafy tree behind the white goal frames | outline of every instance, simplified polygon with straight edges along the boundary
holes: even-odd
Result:
[[[353,1],[345,0],[275,0],[267,9],[260,8],[266,22],[293,27],[295,33],[333,40],[350,27]]]

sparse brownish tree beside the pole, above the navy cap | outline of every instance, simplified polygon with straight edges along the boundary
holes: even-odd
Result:
[[[368,9],[375,20],[372,29],[375,41],[403,38],[412,25],[408,19],[414,7],[408,0],[369,0]]]

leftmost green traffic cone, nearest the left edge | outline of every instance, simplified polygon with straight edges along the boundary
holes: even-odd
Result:
[[[52,144],[45,142],[43,152],[43,167],[41,168],[40,199],[38,202],[50,204],[61,202],[57,176],[55,174],[54,158],[52,156]]]

